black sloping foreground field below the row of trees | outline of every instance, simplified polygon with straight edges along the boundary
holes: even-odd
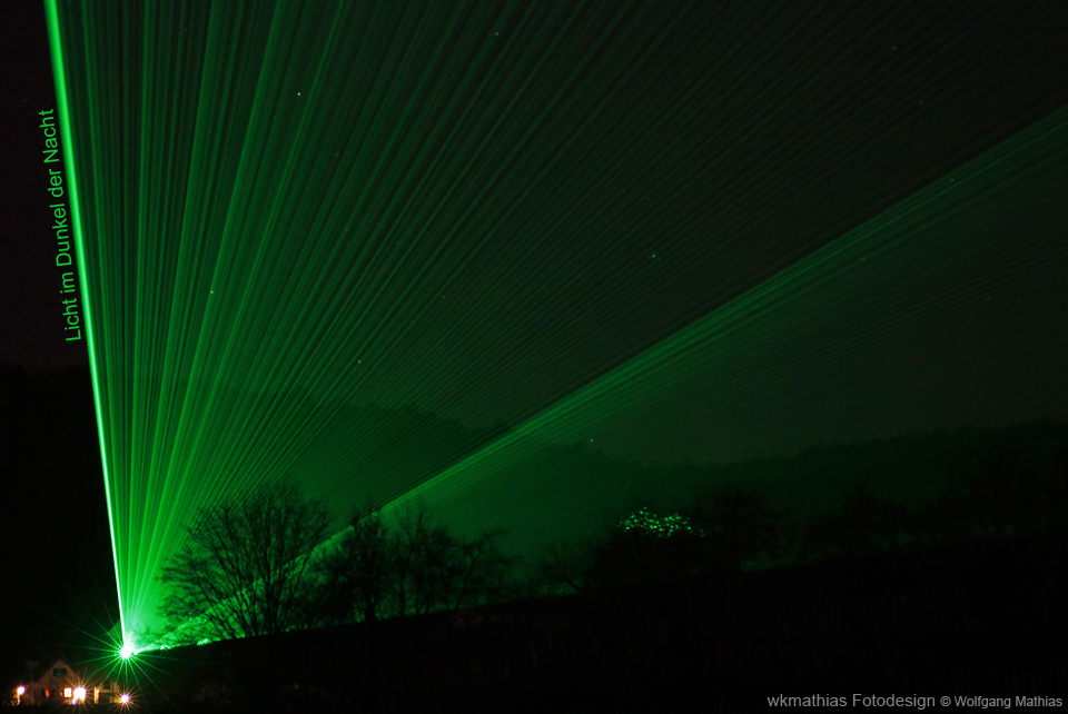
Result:
[[[1065,545],[896,554],[174,649],[149,660],[159,688],[140,707],[746,712],[779,694],[854,693],[1065,701]]]

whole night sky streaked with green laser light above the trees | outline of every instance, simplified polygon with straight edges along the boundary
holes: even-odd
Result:
[[[63,7],[131,609],[188,514],[286,474],[534,542],[642,484],[567,448],[1066,416],[1062,3],[194,3],[89,41]],[[8,16],[0,359],[85,366],[43,12]]]

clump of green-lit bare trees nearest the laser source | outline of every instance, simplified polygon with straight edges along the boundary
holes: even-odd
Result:
[[[301,628],[456,612],[514,599],[516,558],[503,530],[457,535],[423,504],[387,524],[354,515],[333,538],[330,517],[285,480],[200,510],[159,577],[165,632],[142,644],[197,644]]]

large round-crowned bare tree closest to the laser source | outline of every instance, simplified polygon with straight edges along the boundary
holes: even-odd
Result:
[[[168,591],[160,615],[186,641],[299,626],[314,551],[329,525],[326,507],[288,480],[202,508],[159,577]]]

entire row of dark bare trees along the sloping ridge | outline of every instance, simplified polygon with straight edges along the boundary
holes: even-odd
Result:
[[[253,495],[216,505],[198,520],[191,535],[229,536],[225,543],[194,538],[172,559],[165,585],[176,588],[168,603],[180,606],[164,614],[185,633],[178,642],[197,642],[205,634],[239,637],[456,613],[523,597],[683,587],[708,578],[731,582],[754,569],[1057,535],[1068,529],[1064,435],[1064,425],[1052,423],[1003,429],[1001,438],[988,434],[977,468],[952,473],[927,503],[881,497],[858,479],[835,507],[804,515],[765,490],[712,483],[676,512],[637,507],[619,514],[599,535],[560,541],[525,561],[505,549],[505,530],[461,535],[443,519],[447,514],[423,504],[390,520],[367,507],[340,535],[314,552],[303,546],[296,553],[293,544],[318,543],[325,535],[323,506],[308,510],[290,499],[274,508],[271,518],[235,522],[227,515],[247,514],[249,504],[261,499]],[[294,517],[298,512],[318,515]],[[271,533],[285,543],[264,538],[266,526],[256,524],[267,520],[277,524]],[[305,533],[313,526],[314,534]],[[237,562],[270,567],[243,579],[236,575],[240,568],[208,562],[211,553],[231,559],[238,553]],[[266,583],[285,596],[271,594]],[[195,611],[207,613],[209,622],[222,619],[199,633],[189,626]],[[285,624],[258,625],[274,622]]]

